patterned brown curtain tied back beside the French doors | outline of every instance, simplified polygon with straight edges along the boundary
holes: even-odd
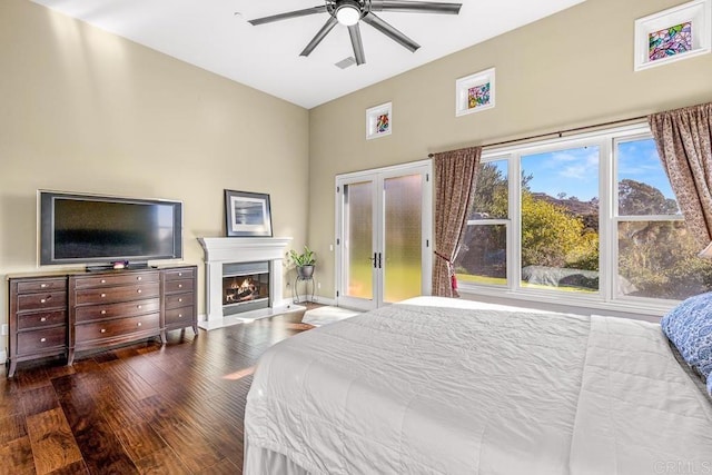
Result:
[[[459,297],[452,266],[475,184],[482,147],[435,154],[435,263],[433,295]]]

